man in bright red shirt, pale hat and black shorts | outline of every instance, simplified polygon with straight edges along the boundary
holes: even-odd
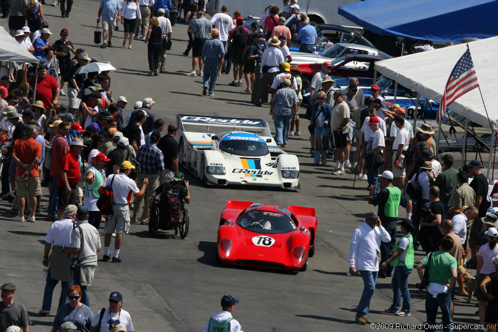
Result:
[[[83,147],[83,138],[75,137],[71,140],[69,152],[62,157],[61,176],[57,183],[57,189],[59,190],[57,220],[62,218],[68,205],[76,205],[76,185],[80,181],[79,156],[83,151]]]

